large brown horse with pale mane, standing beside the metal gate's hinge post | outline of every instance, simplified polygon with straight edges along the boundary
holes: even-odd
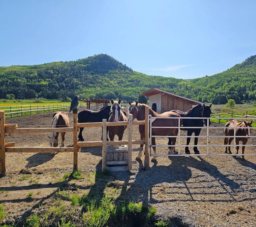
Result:
[[[138,101],[131,103],[129,101],[129,113],[132,114],[132,120],[134,120],[135,118],[138,121],[144,121],[145,120],[145,107],[148,106],[146,104],[141,104],[138,103]],[[178,113],[175,112],[171,112],[171,111],[167,111],[167,112],[163,112],[161,114],[158,114],[157,112],[155,112],[154,110],[152,110],[149,107],[149,114],[152,115],[153,117],[177,117],[177,119],[167,119],[167,118],[157,118],[155,119],[155,121],[153,121],[152,126],[153,127],[169,127],[169,128],[165,128],[165,129],[159,129],[159,128],[154,128],[152,129],[152,135],[170,135],[170,136],[177,136],[178,135],[178,128],[172,128],[172,127],[178,127],[179,126],[179,119],[178,117],[180,117],[180,115]],[[180,119],[180,125],[182,125],[182,119]],[[145,139],[145,125],[139,125],[139,132],[140,132],[140,139],[144,140]],[[176,143],[176,137],[172,137],[169,140],[168,145],[175,145]],[[155,137],[152,137],[152,145],[155,145]],[[141,148],[143,148],[143,144],[140,145]],[[170,154],[173,154],[175,150],[175,147],[170,147]],[[153,151],[155,154],[157,154],[156,152],[156,148],[153,147]],[[139,151],[138,156],[136,158],[140,159],[142,155],[142,151]],[[154,156],[151,161],[155,161],[156,157]]]

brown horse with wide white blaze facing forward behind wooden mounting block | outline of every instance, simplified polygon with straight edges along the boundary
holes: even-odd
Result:
[[[121,110],[121,99],[114,101],[111,99],[111,112],[109,113],[110,117],[108,119],[109,122],[118,122],[118,121],[127,121],[126,112]],[[124,130],[127,128],[127,125],[120,126],[111,126],[108,129],[109,140],[113,141],[115,135],[118,135],[118,140],[121,141],[123,139]]]

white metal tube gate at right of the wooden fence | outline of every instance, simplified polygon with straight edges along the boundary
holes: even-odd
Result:
[[[186,139],[187,139],[187,131],[185,130],[181,130],[181,126],[180,126],[180,118],[179,118],[179,127],[172,127],[172,128],[178,128],[178,135],[177,135],[177,139],[176,139],[176,144],[175,145],[167,145],[166,144],[157,144],[157,141],[156,141],[156,145],[152,145],[152,137],[155,137],[156,139],[157,138],[171,138],[171,137],[176,137],[176,136],[158,136],[158,135],[152,135],[152,129],[153,128],[168,128],[168,127],[153,127],[152,126],[152,122],[157,119],[157,118],[163,118],[163,117],[152,117],[151,115],[149,115],[149,121],[148,121],[148,138],[149,138],[149,149],[150,149],[150,156],[216,156],[216,155],[219,155],[219,156],[237,156],[236,154],[236,143],[235,143],[235,137],[236,135],[234,136],[231,136],[231,137],[234,137],[232,143],[230,145],[224,145],[223,144],[223,140],[225,137],[228,137],[228,136],[225,136],[224,134],[224,125],[221,124],[221,123],[215,123],[219,126],[212,126],[213,124],[209,125],[209,121],[212,121],[213,119],[215,120],[218,120],[218,121],[221,121],[221,120],[225,120],[225,121],[230,121],[230,120],[236,120],[236,121],[242,121],[242,120],[246,120],[246,121],[254,121],[256,123],[256,118],[250,118],[250,119],[245,119],[245,118],[217,118],[217,117],[211,117],[211,118],[202,118],[202,117],[186,117],[186,119],[190,118],[190,119],[207,119],[207,122],[208,122],[208,125],[209,126],[204,126],[204,127],[183,127],[183,128],[186,128],[186,129],[189,129],[189,128],[198,128],[198,129],[201,129],[201,133],[199,136],[194,136],[193,134],[190,136],[191,137],[191,140],[190,140],[190,144],[188,145],[188,147],[195,147],[194,145],[194,138],[195,137],[198,137],[198,145],[196,145],[197,147],[203,147],[204,148],[204,152],[201,153],[200,151],[200,154],[194,154],[194,150],[191,152],[191,154],[186,154],[185,153],[185,147],[187,146],[186,145]],[[170,118],[176,118],[177,117],[170,117]],[[242,119],[242,120],[241,120]],[[242,128],[242,127],[234,127],[235,128]],[[217,130],[219,131],[219,134],[220,135],[211,135],[212,131],[213,130]],[[239,144],[239,151],[238,151],[238,156],[242,156],[242,146],[245,146],[245,152],[244,152],[244,156],[246,155],[256,155],[256,127],[252,127],[252,135],[250,136],[250,139],[248,139],[248,142],[246,145],[242,145],[242,144]],[[183,133],[182,133],[183,131]],[[239,136],[239,137],[245,137],[245,136]],[[211,138],[220,138],[218,141],[219,143],[218,144],[211,144],[210,141],[211,141]],[[202,139],[204,139],[205,141],[205,144],[202,144]],[[157,151],[157,155],[155,155],[153,152],[152,152],[152,147],[175,147],[175,150],[178,152],[174,153],[174,154],[167,154],[166,152],[164,154],[162,153],[158,153]],[[231,149],[232,153],[229,154],[229,153],[225,153],[225,147],[233,147],[233,150]],[[221,149],[221,152],[216,152],[218,149],[218,147],[223,147],[223,149]],[[250,149],[250,153],[246,152],[246,147],[252,147]],[[181,149],[181,148],[184,148]],[[253,149],[255,148],[255,149]],[[215,152],[213,152],[215,149]]]

